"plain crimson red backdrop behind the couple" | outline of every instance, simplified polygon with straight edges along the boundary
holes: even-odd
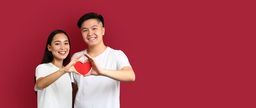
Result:
[[[35,68],[62,29],[71,55],[87,48],[76,26],[103,15],[104,44],[136,74],[121,108],[255,108],[255,0],[0,1],[0,108],[36,108]]]

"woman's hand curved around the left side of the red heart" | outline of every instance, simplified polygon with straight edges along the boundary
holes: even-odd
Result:
[[[74,73],[76,73],[76,74],[78,74],[78,75],[81,75],[79,72],[76,71],[74,65],[76,64],[76,62],[81,62],[81,63],[83,63],[83,61],[79,59],[79,58],[81,58],[82,56],[83,56],[83,54],[81,54],[81,55],[79,55],[79,56],[76,55],[76,57],[73,58],[73,59],[71,60],[71,62],[68,63],[68,64],[63,68],[64,72],[65,72],[65,73],[66,73],[66,72],[74,72]]]

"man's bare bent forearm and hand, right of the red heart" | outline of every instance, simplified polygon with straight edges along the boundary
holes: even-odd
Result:
[[[88,54],[85,54],[85,56],[88,58],[85,60],[85,62],[89,61],[92,65],[92,71],[90,73],[85,74],[85,76],[90,76],[90,75],[107,76],[117,81],[124,81],[124,82],[135,81],[135,74],[133,72],[132,67],[126,66],[126,67],[123,67],[121,70],[102,69],[94,58],[92,58]]]

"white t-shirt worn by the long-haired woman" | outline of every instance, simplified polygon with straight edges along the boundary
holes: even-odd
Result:
[[[60,70],[52,63],[40,64],[36,68],[36,80]],[[70,73],[62,75],[57,81],[38,91],[38,108],[72,108],[72,85]]]

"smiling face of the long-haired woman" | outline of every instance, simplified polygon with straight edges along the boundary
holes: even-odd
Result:
[[[64,33],[53,36],[51,45],[47,47],[52,51],[54,61],[65,59],[70,49],[68,38]]]

